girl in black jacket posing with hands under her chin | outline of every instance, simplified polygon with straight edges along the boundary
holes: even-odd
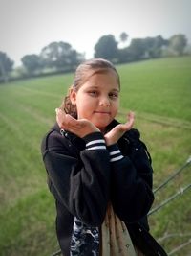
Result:
[[[166,255],[148,232],[151,158],[133,128],[134,113],[125,124],[115,120],[119,92],[111,62],[80,64],[42,141],[64,256]]]

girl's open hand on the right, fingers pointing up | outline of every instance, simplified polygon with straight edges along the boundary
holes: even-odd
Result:
[[[125,124],[118,124],[115,128],[111,129],[104,135],[107,146],[117,143],[127,130],[133,128],[135,121],[134,112],[129,112],[127,118],[128,121]]]

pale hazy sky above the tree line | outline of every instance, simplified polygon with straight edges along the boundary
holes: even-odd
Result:
[[[102,35],[184,34],[191,42],[191,0],[0,0],[0,51],[20,64],[53,41],[92,58]]]

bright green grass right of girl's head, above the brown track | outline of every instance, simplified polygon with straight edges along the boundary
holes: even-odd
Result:
[[[191,120],[190,58],[159,59],[121,66],[122,105],[138,112]]]

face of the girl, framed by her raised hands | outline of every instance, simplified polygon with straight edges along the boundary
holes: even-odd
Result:
[[[119,105],[119,86],[112,71],[97,73],[77,92],[71,93],[78,119],[88,119],[101,131],[116,117]]]

